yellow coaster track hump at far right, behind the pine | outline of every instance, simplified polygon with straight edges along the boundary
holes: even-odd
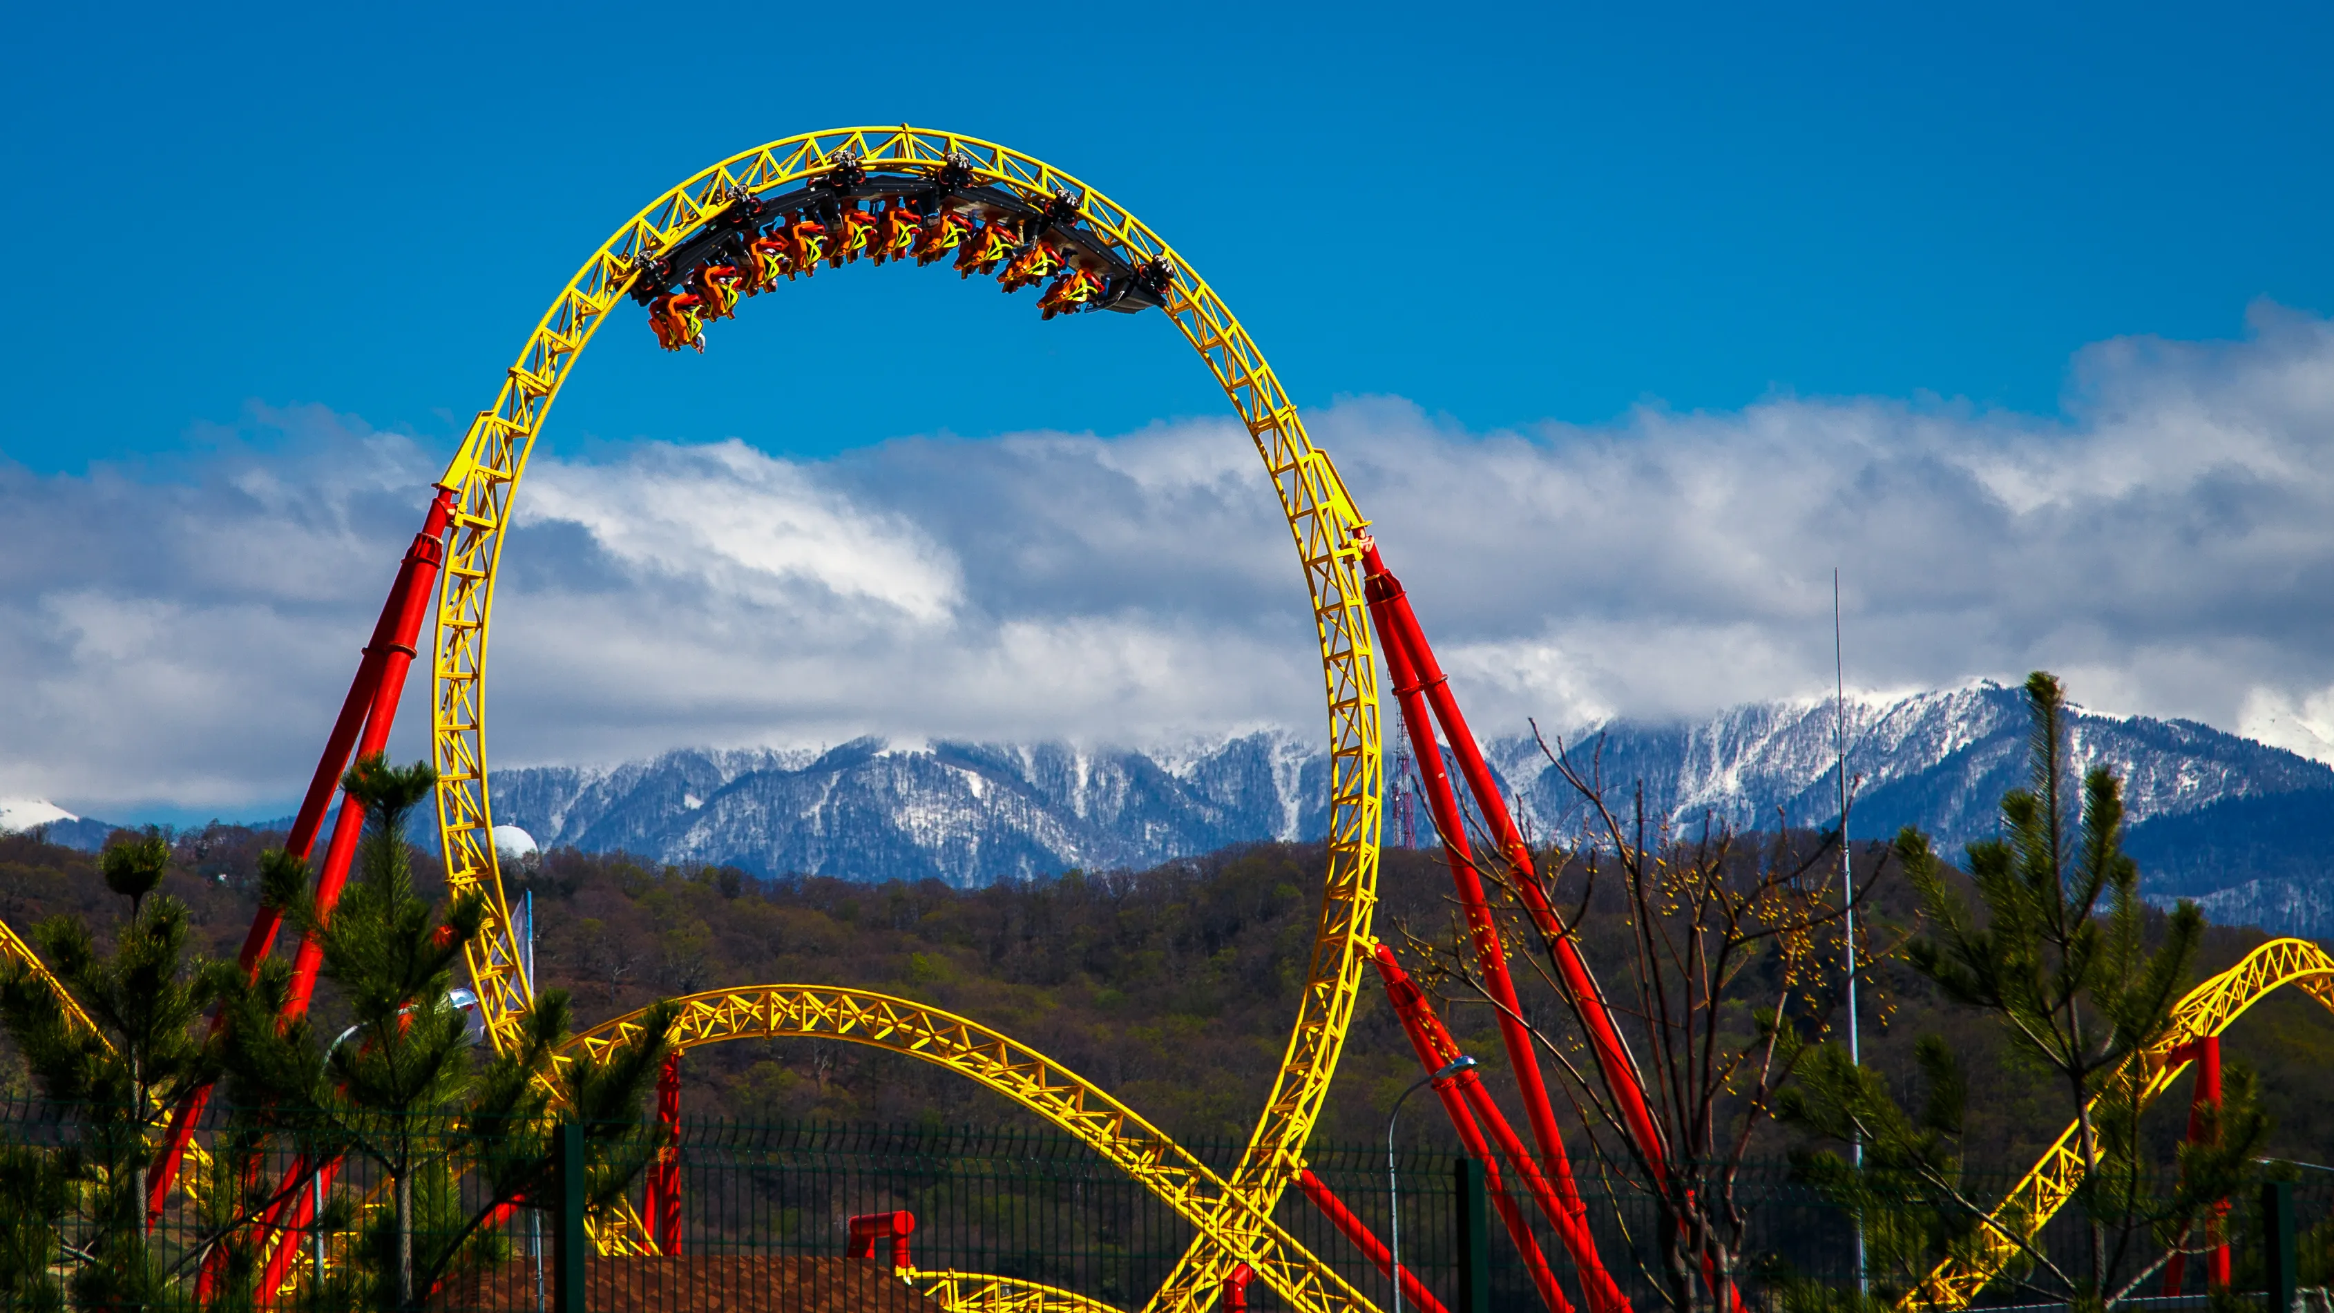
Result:
[[[2245,961],[2192,989],[2173,1007],[2171,1033],[2133,1059],[2147,1070],[2140,1108],[2189,1068],[2187,1059],[2171,1056],[2175,1047],[2227,1031],[2248,1007],[2287,984],[2301,986],[2311,998],[2334,1010],[2334,956],[2308,940],[2269,940],[2245,954]],[[2042,1161],[2019,1178],[1986,1215],[1975,1248],[1937,1264],[1921,1285],[1898,1301],[1898,1308],[1905,1313],[1968,1308],[1977,1292],[2000,1276],[2019,1250],[2042,1231],[2045,1222],[2075,1196],[2089,1166],[2082,1159],[2077,1126],[2068,1122],[2066,1131],[2059,1131],[2052,1147],[2042,1152]]]

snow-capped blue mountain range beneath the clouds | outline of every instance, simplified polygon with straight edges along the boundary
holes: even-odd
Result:
[[[2021,781],[2026,723],[2024,693],[1998,683],[1851,697],[1856,835],[1914,823],[1958,856]],[[1610,721],[1561,746],[1615,798],[1643,781],[1648,809],[1678,828],[1823,826],[1839,812],[1837,732],[1832,700],[1758,702],[1692,723]],[[2334,933],[2334,858],[2313,844],[2334,821],[2334,770],[2194,721],[2077,714],[2073,746],[2124,777],[2129,849],[2152,896],[2206,898],[2224,921]],[[1578,793],[1538,744],[1510,737],[1489,753],[1538,833],[1578,826]],[[495,821],[544,847],[950,884],[1309,840],[1326,830],[1326,753],[1284,732],[1176,751],[859,739],[499,770],[492,781]]]

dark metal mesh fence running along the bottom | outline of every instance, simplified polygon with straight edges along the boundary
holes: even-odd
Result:
[[[684,1124],[672,1175],[658,1175],[656,1145],[614,1129],[584,1136],[406,1122],[359,1126],[357,1138],[345,1131],[310,1133],[294,1119],[268,1136],[205,1133],[205,1159],[187,1171],[191,1189],[175,1196],[147,1236],[124,1224],[135,1217],[135,1206],[124,1203],[135,1196],[135,1180],[105,1168],[135,1154],[107,1143],[103,1119],[54,1105],[0,1108],[0,1304],[9,1311],[394,1308],[397,1271],[411,1262],[406,1306],[448,1313],[906,1313],[948,1304],[1036,1313],[1078,1301],[1132,1311],[1167,1280],[1197,1234],[1158,1194],[1060,1133]],[[1193,1150],[1218,1173],[1239,1157],[1239,1145]],[[404,1227],[392,1164],[401,1164],[394,1175],[408,1182]],[[1314,1145],[1307,1164],[1312,1178],[1281,1192],[1274,1222],[1370,1304],[1393,1308],[1393,1283],[1363,1252],[1391,1231],[1384,1145]],[[651,1189],[651,1175],[677,1182],[677,1192]],[[1396,1154],[1400,1259],[1417,1280],[1405,1308],[1540,1308],[1480,1180],[1477,1164]],[[1993,1201],[2012,1180],[1970,1175],[1963,1185],[1970,1199]],[[628,1182],[621,1194],[619,1182]],[[576,1206],[595,1192],[593,1208]],[[1627,1182],[1587,1180],[1582,1203],[1620,1292],[1634,1308],[1664,1308],[1652,1199]],[[1802,1294],[1856,1290],[1858,1217],[1788,1164],[1743,1171],[1736,1203],[1750,1264],[1746,1304],[1776,1308],[1793,1283]],[[1566,1299],[1592,1308],[1545,1217],[1524,1199],[1519,1206]],[[1940,1217],[1958,1208],[1944,1199],[1893,1206]],[[1344,1224],[1333,1220],[1340,1210]],[[581,1231],[586,1215],[602,1238],[609,1227],[654,1234],[661,1215],[670,1215],[679,1231],[665,1250],[682,1257],[593,1257],[600,1245]],[[913,1217],[913,1229],[903,1217]],[[2280,1227],[2290,1236],[2283,1250],[2271,1243]],[[404,1250],[401,1234],[411,1236]],[[2234,1290],[2299,1287],[2308,1306],[2311,1287],[2334,1278],[2334,1173],[2301,1173],[2266,1206],[2259,1196],[2231,1201],[2227,1238]],[[2063,1269],[2087,1262],[2087,1234],[2073,1213],[2054,1220],[2038,1243]],[[2287,1255],[2283,1271],[2280,1255]],[[906,1259],[917,1280],[894,1280],[894,1259]],[[1877,1269],[1865,1276],[1888,1280]],[[2189,1262],[2180,1297],[2154,1294],[2161,1280],[2147,1290],[2152,1304],[2203,1306],[2206,1264]],[[1265,1280],[1244,1297],[1258,1311],[1284,1306]],[[2063,1292],[2028,1276],[1996,1283],[1979,1304],[2047,1308],[2063,1306]]]

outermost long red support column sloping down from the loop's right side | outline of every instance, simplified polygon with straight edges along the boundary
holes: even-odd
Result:
[[[1508,812],[1508,800],[1498,791],[1498,779],[1491,774],[1491,765],[1484,760],[1482,749],[1475,744],[1475,735],[1468,730],[1466,716],[1459,711],[1459,700],[1449,690],[1449,676],[1442,674],[1442,665],[1435,660],[1433,646],[1426,641],[1426,632],[1419,627],[1419,618],[1410,609],[1410,595],[1386,569],[1375,539],[1363,534],[1358,546],[1370,590],[1370,618],[1377,625],[1379,644],[1386,648],[1386,669],[1393,672],[1393,651],[1400,648],[1410,665],[1410,683],[1417,688],[1417,695],[1433,707],[1433,716],[1442,725],[1442,735],[1449,739],[1452,758],[1459,760],[1459,774],[1466,777],[1468,791],[1475,795],[1475,809],[1491,828],[1501,856],[1515,868],[1517,898],[1522,898],[1524,910],[1531,914],[1531,921],[1540,928],[1540,933],[1554,942],[1554,963],[1557,975],[1564,980],[1566,1000],[1580,1019],[1580,1028],[1589,1035],[1589,1052],[1596,1054],[1596,1068],[1603,1073],[1606,1087],[1620,1105],[1629,1138],[1638,1145],[1638,1152],[1645,1157],[1645,1164],[1659,1182],[1666,1178],[1666,1140],[1659,1124],[1652,1119],[1652,1108],[1645,1103],[1645,1080],[1636,1068],[1636,1059],[1629,1054],[1629,1045],[1622,1040],[1620,1028],[1613,1026],[1613,1010],[1603,998],[1603,989],[1596,984],[1589,966],[1573,947],[1571,931],[1561,924],[1554,907],[1547,905],[1540,882],[1533,879],[1531,849],[1524,844],[1524,835],[1517,828],[1512,812]],[[1396,674],[1393,679],[1396,693],[1400,693],[1403,676]],[[1414,697],[1405,695],[1403,714],[1410,721],[1412,742],[1419,744],[1419,774],[1428,779],[1431,798],[1435,784],[1428,777],[1426,765],[1431,760],[1433,774],[1442,777],[1442,753],[1433,744],[1433,730],[1424,728],[1424,716],[1412,711],[1412,704]],[[1447,781],[1445,788],[1449,788]],[[1440,812],[1435,812],[1435,823],[1442,826]],[[1449,835],[1452,830],[1445,828],[1445,837]],[[1466,889],[1461,889],[1461,900],[1466,900]],[[1517,1070],[1517,1075],[1522,1077],[1522,1070]],[[1533,1070],[1533,1077],[1536,1075],[1538,1073]],[[1533,1084],[1538,1082],[1533,1080]],[[1531,1091],[1526,1089],[1526,1103],[1529,1101]],[[1533,1138],[1543,1138],[1538,1117],[1533,1117]],[[1547,1145],[1543,1143],[1540,1147],[1545,1152]]]

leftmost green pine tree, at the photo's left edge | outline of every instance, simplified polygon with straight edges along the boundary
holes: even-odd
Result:
[[[72,1299],[84,1308],[177,1299],[175,1278],[147,1238],[147,1154],[170,1105],[210,1080],[212,1063],[194,1031],[210,986],[205,963],[187,949],[187,905],[154,896],[168,865],[170,840],[161,830],[117,835],[98,858],[105,886],[131,905],[114,952],[100,954],[82,921],[51,917],[33,928],[33,945],[63,996],[21,963],[0,977],[0,1024],[40,1091],[75,1105],[79,1126],[68,1152],[19,1145],[0,1159],[0,1206],[9,1210],[0,1248],[12,1250],[0,1257],[0,1273],[23,1280],[21,1264],[42,1243],[61,1241],[70,1217],[82,1243],[63,1252],[72,1264]]]

